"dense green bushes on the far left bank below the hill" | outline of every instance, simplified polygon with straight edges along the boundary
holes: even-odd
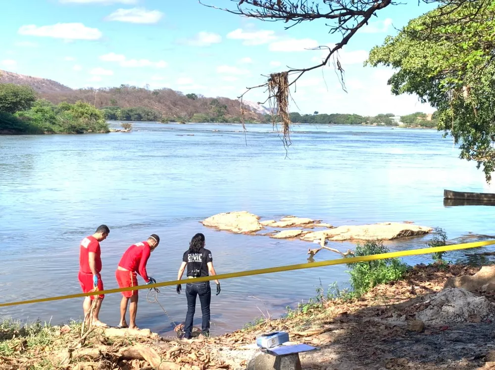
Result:
[[[101,111],[77,101],[57,105],[37,99],[33,89],[0,84],[0,134],[107,133]]]

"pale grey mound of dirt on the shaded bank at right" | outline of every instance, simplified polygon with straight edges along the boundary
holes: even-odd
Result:
[[[432,294],[423,304],[428,307],[418,312],[416,319],[425,324],[465,323],[470,316],[485,320],[495,313],[488,299],[462,288],[446,288]]]

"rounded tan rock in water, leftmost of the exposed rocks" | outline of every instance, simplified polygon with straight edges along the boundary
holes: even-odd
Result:
[[[250,234],[263,229],[259,216],[247,211],[219,213],[201,221],[201,224],[238,234]]]

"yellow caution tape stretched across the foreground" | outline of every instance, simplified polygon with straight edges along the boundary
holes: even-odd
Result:
[[[414,256],[414,255],[418,255],[418,254],[428,254],[428,253],[447,252],[447,251],[468,249],[468,248],[478,248],[478,247],[483,247],[486,245],[493,245],[493,244],[495,244],[495,240],[476,241],[473,243],[453,244],[453,245],[445,245],[442,247],[433,247],[433,248],[428,247],[428,248],[410,249],[410,250],[403,250],[403,251],[399,251],[399,252],[372,254],[369,256],[347,257],[347,258],[340,258],[337,260],[327,260],[327,261],[321,261],[321,262],[309,262],[309,263],[301,263],[301,264],[297,264],[297,265],[287,265],[287,266],[279,266],[279,267],[269,267],[266,269],[240,271],[237,273],[220,274],[220,275],[215,275],[215,276],[196,277],[193,279],[163,281],[163,282],[157,282],[154,284],[131,286],[128,288],[116,288],[116,289],[101,290],[98,293],[99,294],[111,294],[111,293],[125,292],[125,291],[130,291],[130,290],[158,288],[161,286],[170,286],[170,285],[176,285],[176,284],[202,282],[202,281],[209,281],[209,280],[222,280],[222,279],[230,279],[233,277],[245,277],[245,276],[253,276],[253,275],[272,274],[272,273],[280,273],[280,272],[284,272],[284,271],[310,269],[313,267],[342,265],[342,264],[349,264],[349,263],[356,263],[356,262],[383,260],[383,259],[387,259],[387,258]],[[68,295],[61,295],[58,297],[49,297],[49,298],[29,299],[29,300],[19,301],[19,302],[0,303],[0,307],[26,305],[29,303],[59,301],[62,299],[80,298],[80,297],[87,297],[90,295],[95,295],[95,292],[68,294]]]

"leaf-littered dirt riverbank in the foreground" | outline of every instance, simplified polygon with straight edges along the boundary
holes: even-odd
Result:
[[[491,308],[484,317],[480,305],[464,306],[459,316],[462,310],[455,311],[447,300],[445,310],[451,322],[442,322],[446,317],[442,308],[430,315],[440,321],[429,322],[425,316],[429,308],[439,307],[435,297],[449,278],[479,270],[463,265],[418,265],[401,280],[380,284],[360,298],[336,289],[320,292],[284,319],[272,320],[264,312],[263,320],[245,329],[193,341],[159,338],[148,330],[98,328],[80,345],[77,323],[25,331],[12,331],[4,324],[0,326],[0,369],[152,369],[158,360],[161,365],[155,369],[246,369],[256,352],[256,335],[273,330],[288,331],[291,341],[319,348],[300,355],[302,369],[490,368],[495,364]],[[472,294],[460,289],[444,292]],[[483,299],[493,307],[493,292],[474,295],[481,298],[467,296],[464,303]],[[418,314],[424,322],[417,320]],[[143,352],[143,345],[148,351]]]

